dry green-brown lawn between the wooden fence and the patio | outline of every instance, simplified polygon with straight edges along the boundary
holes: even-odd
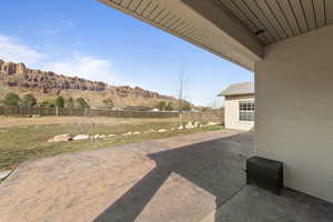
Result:
[[[137,135],[121,135],[129,131],[171,129],[178,127],[178,119],[112,119],[112,118],[0,118],[0,170],[16,168],[26,160],[52,157],[61,153],[80,152],[99,148],[162,139],[178,134],[220,130],[222,127],[150,132]],[[49,143],[57,134],[117,134],[103,140],[85,140]]]

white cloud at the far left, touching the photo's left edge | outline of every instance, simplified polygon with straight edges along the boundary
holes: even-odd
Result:
[[[16,38],[0,34],[0,59],[33,65],[46,58],[44,53],[37,52],[32,48],[19,43]]]

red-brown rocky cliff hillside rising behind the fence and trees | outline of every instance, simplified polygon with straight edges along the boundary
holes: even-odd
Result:
[[[176,102],[175,98],[143,90],[139,87],[114,87],[104,82],[90,81],[78,77],[65,77],[51,71],[27,68],[23,63],[0,60],[0,84],[19,94],[33,93],[39,99],[57,95],[83,97],[91,103],[111,98],[115,105],[154,105],[159,101]]]

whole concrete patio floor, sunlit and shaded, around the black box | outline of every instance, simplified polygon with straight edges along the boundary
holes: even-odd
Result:
[[[330,203],[245,185],[252,153],[223,130],[28,161],[0,184],[0,221],[332,221]]]

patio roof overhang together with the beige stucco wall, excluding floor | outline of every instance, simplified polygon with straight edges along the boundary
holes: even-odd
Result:
[[[254,71],[255,154],[333,202],[333,1],[100,1]]]

